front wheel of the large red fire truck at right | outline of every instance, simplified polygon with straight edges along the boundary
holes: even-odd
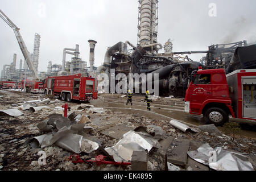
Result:
[[[229,116],[225,110],[220,109],[218,107],[212,107],[204,113],[204,119],[207,122],[207,124],[223,126],[225,122],[229,121]]]

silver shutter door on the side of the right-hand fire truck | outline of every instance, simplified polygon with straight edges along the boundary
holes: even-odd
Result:
[[[256,119],[256,77],[242,77],[243,117]]]

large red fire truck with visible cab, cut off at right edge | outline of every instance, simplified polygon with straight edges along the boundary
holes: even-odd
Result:
[[[185,96],[185,111],[222,126],[233,118],[256,121],[256,69],[197,71]]]

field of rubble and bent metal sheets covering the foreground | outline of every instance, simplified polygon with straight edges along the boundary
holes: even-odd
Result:
[[[255,139],[240,136],[233,140],[214,126],[187,126],[190,130],[185,127],[184,132],[173,126],[170,119],[139,112],[130,114],[122,110],[109,110],[97,102],[68,103],[71,110],[68,111],[68,118],[64,118],[61,107],[65,104],[63,101],[46,100],[39,95],[36,102],[27,102],[33,94],[15,91],[1,94],[5,96],[0,97],[1,111],[13,109],[11,105],[17,105],[16,109],[23,113],[15,117],[0,115],[0,170],[3,171],[229,170],[223,163],[228,164],[225,160],[231,158],[235,159],[233,167],[236,167],[235,164],[238,166],[232,169],[255,169]],[[22,97],[12,97],[10,100],[8,94]],[[141,100],[142,97],[135,97],[133,102]],[[164,102],[164,98],[158,100]],[[40,110],[23,110],[28,105],[40,107]],[[216,151],[216,163],[205,163],[210,156],[207,156],[209,152],[207,155],[201,153],[205,151],[204,147],[208,151]],[[44,165],[38,163],[40,151],[46,154]],[[69,156],[74,153],[80,154],[82,159],[95,160],[96,156],[104,155],[107,156],[105,160],[131,162],[131,165],[75,165],[69,161]],[[201,158],[202,155],[207,158]]]

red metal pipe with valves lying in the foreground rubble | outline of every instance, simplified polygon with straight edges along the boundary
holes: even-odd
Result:
[[[119,166],[128,166],[131,165],[130,162],[112,162],[112,161],[105,161],[106,156],[98,155],[96,156],[96,160],[88,160],[80,158],[79,154],[73,154],[69,157],[69,161],[72,161],[73,164],[81,164],[81,163],[96,163],[97,166],[101,164],[112,164],[112,165],[119,165]]]

